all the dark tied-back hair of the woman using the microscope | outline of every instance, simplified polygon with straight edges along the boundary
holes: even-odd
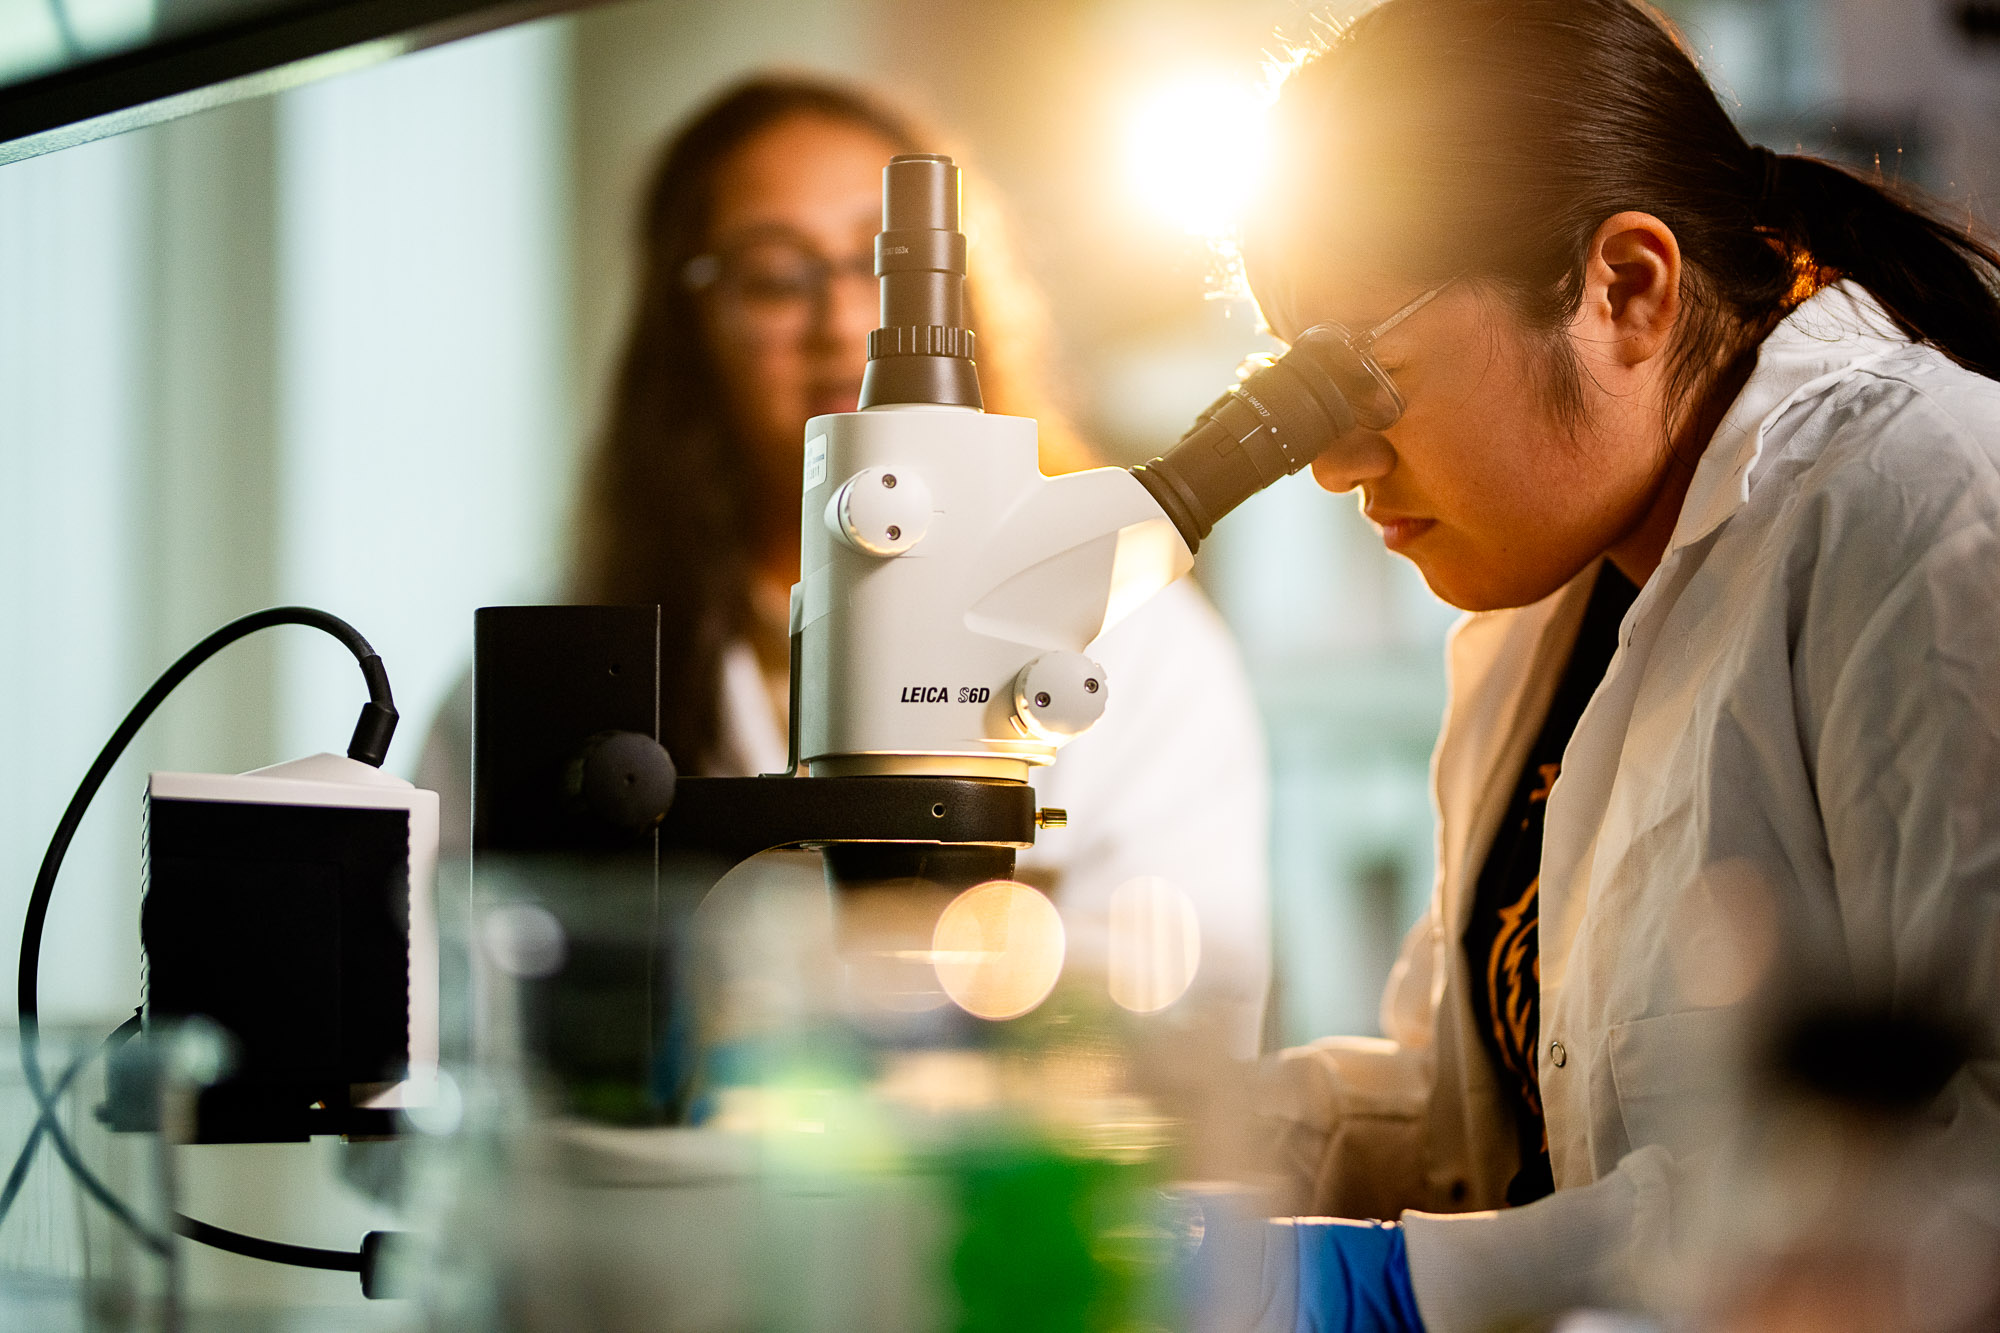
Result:
[[[2000,376],[2000,254],[1888,186],[1752,148],[1636,0],[1386,0],[1294,70],[1276,130],[1288,170],[1246,236],[1254,286],[1302,260],[1474,276],[1550,336],[1558,410],[1582,390],[1554,332],[1582,302],[1592,236],[1624,210],[1680,242],[1682,400],[1718,352],[1838,278]]]

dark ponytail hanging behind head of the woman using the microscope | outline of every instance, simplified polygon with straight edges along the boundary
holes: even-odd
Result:
[[[1772,156],[1762,222],[1828,274],[1866,286],[1896,324],[2000,378],[2000,252],[1832,162]]]

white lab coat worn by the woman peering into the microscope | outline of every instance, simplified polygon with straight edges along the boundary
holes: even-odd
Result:
[[[1462,937],[1592,572],[1452,634],[1438,885],[1382,999],[1388,1039],[1274,1067],[1304,1211],[1492,1209],[1518,1167]],[[1994,957],[2000,384],[1908,342],[1858,286],[1802,304],[1762,344],[1618,642],[1542,845],[1558,1193],[1406,1217],[1432,1333],[1630,1295],[1690,1161],[1728,1129],[1732,1043],[1768,967],[1810,955],[1834,985],[1904,993],[1952,949]],[[1950,1133],[2000,1151],[1990,1061],[1946,1099]]]

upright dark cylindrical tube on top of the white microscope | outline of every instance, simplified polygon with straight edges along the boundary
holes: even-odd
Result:
[[[860,404],[984,406],[966,326],[966,238],[958,230],[958,168],[912,152],[882,172],[876,236],[882,326],[868,334]]]

